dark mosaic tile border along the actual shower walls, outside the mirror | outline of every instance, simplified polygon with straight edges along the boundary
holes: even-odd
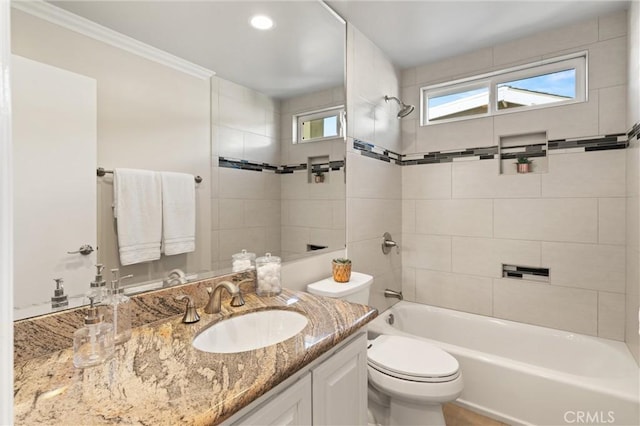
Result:
[[[525,154],[527,157],[546,157],[550,154],[563,154],[567,152],[590,152],[610,149],[624,149],[629,146],[633,138],[640,138],[640,123],[633,126],[629,133],[616,133],[612,135],[593,136],[585,138],[554,139],[547,143],[511,146],[502,149],[500,158],[503,160],[515,159]],[[395,163],[399,166],[413,166],[417,164],[451,163],[454,161],[494,160],[498,158],[498,146],[485,146],[451,151],[433,151],[419,154],[398,154],[372,143],[354,139],[353,148],[360,155]]]

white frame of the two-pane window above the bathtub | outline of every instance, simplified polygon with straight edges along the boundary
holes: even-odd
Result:
[[[463,79],[423,86],[420,88],[420,126],[432,126],[442,123],[451,123],[455,121],[471,120],[475,118],[484,118],[503,114],[511,114],[514,112],[523,112],[587,102],[589,100],[588,63],[588,52],[581,51],[569,55],[563,55],[524,65],[519,65],[516,67],[497,70],[490,73],[479,74]],[[510,81],[538,77],[569,69],[576,70],[576,96],[574,99],[531,106],[523,105],[520,107],[506,108],[502,110],[498,109],[498,85]],[[428,102],[430,98],[480,89],[483,87],[488,88],[489,91],[489,105],[486,113],[465,115],[441,120],[428,119]]]

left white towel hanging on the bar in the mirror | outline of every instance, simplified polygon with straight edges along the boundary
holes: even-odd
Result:
[[[117,218],[122,265],[160,259],[161,185],[156,172],[135,169],[113,171],[114,216]]]

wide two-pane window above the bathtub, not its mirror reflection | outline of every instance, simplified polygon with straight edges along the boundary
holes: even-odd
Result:
[[[423,87],[422,125],[587,100],[582,52]]]

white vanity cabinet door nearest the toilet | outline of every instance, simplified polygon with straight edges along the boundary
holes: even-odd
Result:
[[[313,424],[367,424],[367,339],[362,334],[313,374]]]

